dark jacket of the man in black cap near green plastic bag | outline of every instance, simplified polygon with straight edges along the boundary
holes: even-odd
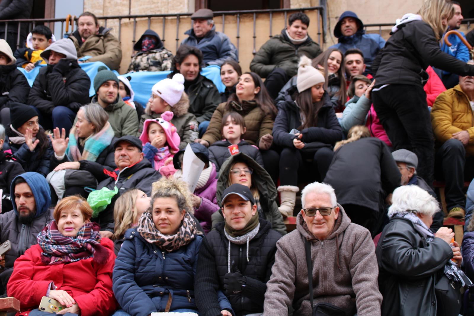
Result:
[[[114,223],[114,203],[120,195],[128,189],[136,188],[150,196],[152,183],[161,178],[161,174],[151,167],[151,163],[147,159],[141,160],[132,167],[126,167],[121,172],[118,172],[118,169],[112,170],[110,167],[88,160],[81,161],[80,169],[91,172],[97,179],[99,182],[97,190],[102,188],[114,190],[116,186],[118,188],[118,193],[113,197],[109,206],[100,212],[98,217],[91,219],[100,225],[101,230],[107,227],[112,229],[109,224]],[[112,176],[114,173],[117,178]]]

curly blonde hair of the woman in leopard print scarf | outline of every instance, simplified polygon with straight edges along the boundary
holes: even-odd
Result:
[[[182,180],[173,177],[162,177],[160,180],[153,182],[151,187],[151,205],[158,198],[174,198],[180,210],[194,214],[192,206],[192,193],[189,191],[188,184]]]

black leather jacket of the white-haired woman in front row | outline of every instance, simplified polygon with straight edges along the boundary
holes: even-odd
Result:
[[[453,257],[444,240],[427,242],[410,220],[395,217],[383,229],[375,254],[383,316],[440,316],[435,284]]]

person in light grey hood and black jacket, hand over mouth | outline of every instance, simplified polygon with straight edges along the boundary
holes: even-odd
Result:
[[[41,57],[48,66],[39,70],[28,104],[36,108],[41,126],[69,132],[79,108],[89,103],[91,80],[77,63],[73,43],[66,38],[49,45]]]

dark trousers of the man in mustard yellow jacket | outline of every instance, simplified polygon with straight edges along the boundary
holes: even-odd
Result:
[[[466,158],[466,149],[457,139],[448,139],[436,151],[436,178],[446,182],[446,208],[465,208],[464,181],[474,177],[474,158]]]

